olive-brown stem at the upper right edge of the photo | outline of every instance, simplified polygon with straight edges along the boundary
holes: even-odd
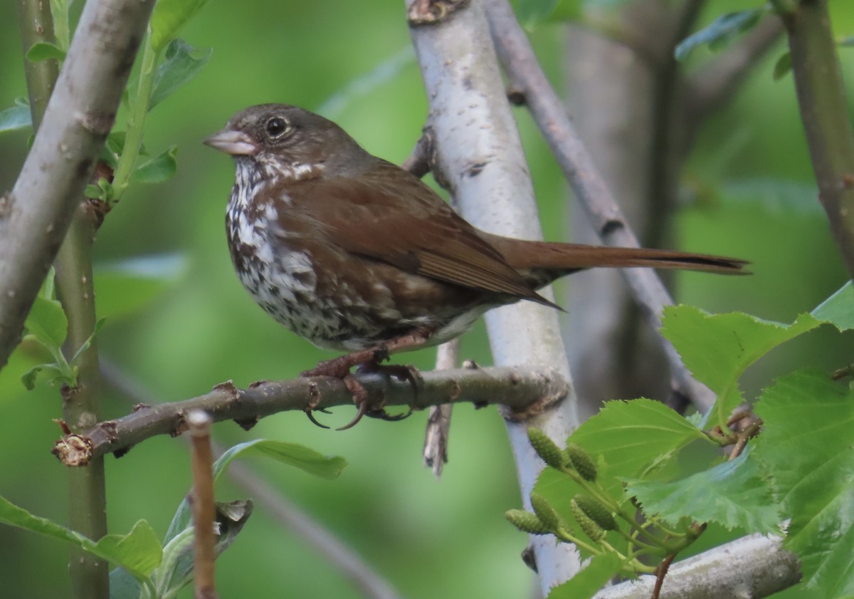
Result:
[[[818,197],[854,278],[854,136],[827,0],[775,0],[789,38],[795,89]]]

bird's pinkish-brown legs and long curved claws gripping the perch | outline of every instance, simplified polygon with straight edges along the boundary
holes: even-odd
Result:
[[[383,373],[393,376],[395,379],[399,379],[401,381],[407,380],[409,381],[409,384],[412,385],[412,392],[417,400],[418,371],[411,366],[399,366],[393,364],[383,365],[380,362],[388,360],[389,355],[395,352],[402,351],[404,349],[417,348],[424,345],[427,339],[430,338],[430,333],[430,331],[419,330],[407,333],[406,335],[401,335],[400,337],[395,337],[384,344],[377,345],[376,347],[360,349],[347,355],[340,355],[337,358],[320,362],[311,370],[301,373],[300,376],[335,377],[336,379],[342,379],[344,386],[346,386],[348,391],[353,394],[353,402],[359,408],[359,411],[348,425],[337,429],[339,431],[346,431],[348,428],[356,426],[356,424],[365,415],[371,418],[381,418],[383,420],[403,420],[412,413],[412,408],[409,409],[407,414],[390,416],[389,414],[386,414],[382,406],[371,406],[370,402],[368,402],[368,393],[365,386],[350,373],[350,368],[358,366],[359,369],[357,372],[359,373]],[[312,420],[315,424],[319,425],[319,422],[313,418],[312,414],[308,411],[307,414],[309,416],[309,420]]]

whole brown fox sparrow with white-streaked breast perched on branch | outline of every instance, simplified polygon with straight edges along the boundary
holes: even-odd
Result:
[[[351,352],[303,373],[337,376],[360,412],[356,365],[441,344],[490,308],[590,267],[739,273],[745,261],[667,250],[504,238],[471,226],[430,187],[362,149],[322,116],[284,104],[235,115],[205,141],[234,156],[225,218],[231,259],[254,300],[322,348]]]

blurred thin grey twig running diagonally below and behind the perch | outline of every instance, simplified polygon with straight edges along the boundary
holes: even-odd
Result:
[[[120,395],[132,404],[155,405],[160,403],[155,396],[144,389],[137,380],[112,361],[102,358],[102,378]],[[224,448],[213,443],[213,452],[222,455]],[[333,567],[347,577],[356,588],[369,599],[401,599],[401,596],[352,549],[330,533],[317,520],[302,511],[284,497],[281,491],[274,489],[264,479],[252,472],[241,461],[232,461],[228,467],[228,476],[239,484],[252,497],[256,505],[266,510],[274,520],[285,529],[292,531],[310,547],[313,547]]]

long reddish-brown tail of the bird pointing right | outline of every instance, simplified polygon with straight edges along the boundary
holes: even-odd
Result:
[[[530,242],[485,234],[507,263],[519,271],[547,269],[560,275],[594,267],[683,268],[719,274],[749,274],[749,262],[719,255],[692,254],[672,250],[612,248],[610,246]]]

